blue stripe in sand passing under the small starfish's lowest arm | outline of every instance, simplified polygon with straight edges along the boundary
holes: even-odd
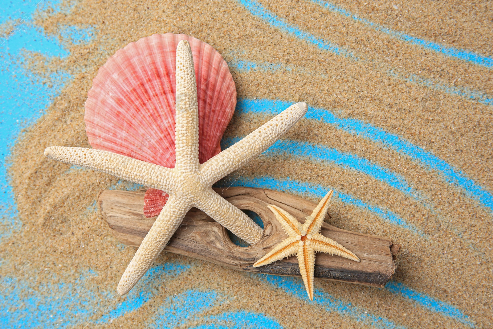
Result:
[[[256,274],[265,282],[271,285],[281,288],[285,292],[290,293],[296,298],[306,300],[307,292],[305,284],[301,278],[282,277],[275,275]],[[323,307],[327,312],[337,312],[342,316],[347,316],[353,321],[361,323],[366,326],[371,326],[378,329],[404,329],[404,326],[395,324],[392,321],[374,315],[360,307],[353,306],[350,302],[345,302],[341,299],[335,298],[330,294],[323,292],[319,289],[315,289],[313,301],[307,301],[311,304]]]

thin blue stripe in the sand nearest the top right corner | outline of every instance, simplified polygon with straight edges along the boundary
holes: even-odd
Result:
[[[403,41],[406,41],[408,43],[420,46],[424,49],[435,51],[437,53],[443,54],[443,55],[448,56],[448,57],[452,57],[454,59],[468,61],[468,62],[474,63],[476,65],[485,66],[487,68],[493,67],[493,59],[490,57],[477,54],[473,51],[457,49],[455,47],[448,47],[446,45],[443,45],[443,44],[440,44],[437,42],[432,42],[432,41],[425,40],[425,39],[419,38],[419,37],[413,37],[413,36],[410,36],[406,33],[400,32],[400,31],[391,30],[391,29],[386,28],[380,24],[373,23],[367,19],[361,18],[358,15],[353,14],[351,11],[344,9],[344,8],[341,8],[341,7],[338,7],[331,2],[322,1],[322,0],[312,0],[312,1],[325,7],[325,8],[327,8],[331,12],[334,12],[334,13],[342,15],[342,16],[346,16],[355,22],[359,22],[365,26],[372,28],[375,31],[383,32],[383,33],[385,33],[389,36],[395,37],[399,40],[403,40]]]

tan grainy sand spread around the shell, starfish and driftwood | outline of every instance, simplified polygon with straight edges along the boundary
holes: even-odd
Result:
[[[16,280],[29,282],[30,287],[65,282],[72,283],[68,290],[81,285],[82,291],[116,291],[135,248],[122,246],[112,237],[95,200],[102,189],[133,186],[106,174],[70,169],[70,165],[45,158],[43,150],[53,145],[90,147],[83,121],[84,102],[98,68],[116,50],[154,33],[184,33],[211,44],[231,64],[239,98],[305,101],[340,118],[370,123],[460,168],[464,175],[492,193],[491,106],[396,77],[419,74],[437,85],[481,90],[491,95],[490,69],[423,50],[334,14],[315,2],[286,0],[262,4],[286,23],[351,49],[353,57],[335,55],[286,34],[253,16],[236,1],[86,0],[70,8],[69,4],[62,4],[62,12],[36,17],[35,24],[49,35],[58,36],[61,25],[75,25],[93,27],[95,37],[90,43],[69,43],[70,56],[63,61],[46,66],[36,58],[29,62],[35,72],[66,71],[73,75],[73,80],[13,148],[9,175],[23,224],[19,232],[1,242],[4,265],[0,274],[4,280],[15,276]],[[396,31],[484,56],[493,55],[492,11],[486,9],[486,2],[465,6],[410,1],[405,5],[396,3],[397,9],[390,2],[380,1],[339,5]],[[275,63],[284,69],[246,71],[235,65],[238,61]],[[388,74],[390,69],[394,75]],[[245,136],[269,118],[263,114],[237,113],[225,137]],[[375,213],[338,198],[329,210],[332,225],[386,236],[401,244],[394,281],[453,305],[468,315],[467,321],[473,325],[385,289],[316,280],[320,292],[330,295],[333,301],[350,303],[362,314],[371,313],[405,328],[493,326],[491,209],[412,157],[334,125],[303,119],[285,139],[368,159],[401,175],[425,201],[367,174],[317,157],[261,156],[236,175],[289,177],[321,184],[405,219],[422,234],[386,222]],[[313,197],[307,198],[317,202]],[[207,325],[204,319],[208,316],[241,310],[263,314],[284,328],[371,327],[370,320],[355,320],[359,311],[344,314],[337,312],[335,306],[327,311],[325,304],[309,303],[307,298],[298,298],[255,275],[168,253],[156,260],[161,265],[170,262],[186,264],[188,269],[177,275],[152,277],[153,297],[135,311],[97,324],[102,314],[108,314],[124,299],[113,296],[102,302],[107,296],[96,293],[99,299],[89,302],[94,305],[94,312],[86,320],[74,320],[70,325],[84,328],[89,322],[88,328],[137,328],[136,324],[152,322],[169,300],[195,290],[213,291],[220,296],[219,301],[199,315],[180,320],[183,328]],[[87,279],[83,284],[77,283],[81,277]],[[138,289],[151,288],[134,288]],[[30,293],[26,291],[26,295]],[[38,293],[49,292],[41,289]],[[382,323],[374,326],[385,328]]]

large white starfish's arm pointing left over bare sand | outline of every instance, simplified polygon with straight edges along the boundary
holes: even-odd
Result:
[[[173,189],[173,169],[94,148],[50,146],[44,150],[50,159],[102,171],[126,181],[158,188]]]

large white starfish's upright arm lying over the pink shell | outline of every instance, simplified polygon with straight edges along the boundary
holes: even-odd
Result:
[[[176,126],[177,170],[199,170],[199,110],[197,86],[190,43],[176,47]]]

